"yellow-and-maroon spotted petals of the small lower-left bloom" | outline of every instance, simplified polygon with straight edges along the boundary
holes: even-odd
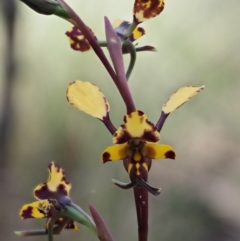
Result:
[[[23,205],[19,215],[22,219],[26,218],[51,218],[58,210],[52,200],[61,197],[69,197],[71,183],[66,179],[64,170],[51,162],[48,166],[49,178],[47,182],[38,185],[34,191],[34,197],[38,200],[29,204]],[[63,221],[59,218],[55,225]],[[78,230],[78,226],[73,220],[70,220],[65,228]]]

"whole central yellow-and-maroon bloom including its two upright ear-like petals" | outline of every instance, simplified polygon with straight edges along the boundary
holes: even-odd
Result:
[[[147,182],[152,159],[175,159],[175,152],[170,145],[158,143],[159,132],[167,116],[203,88],[204,86],[185,86],[176,91],[163,105],[156,125],[147,119],[145,113],[134,110],[124,116],[124,124],[118,129],[113,126],[109,117],[110,104],[96,85],[74,81],[68,86],[67,99],[75,108],[101,120],[112,133],[114,145],[104,150],[102,161],[106,163],[123,160],[131,180],[128,186],[132,187],[137,184],[136,180]]]

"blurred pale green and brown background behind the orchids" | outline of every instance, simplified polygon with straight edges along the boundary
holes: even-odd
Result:
[[[99,39],[104,39],[103,16],[130,21],[134,3],[68,2]],[[86,211],[93,204],[116,240],[137,240],[133,192],[111,183],[111,178],[128,182],[122,162],[100,161],[111,135],[100,121],[70,106],[65,96],[68,83],[76,79],[97,84],[118,127],[125,107],[113,81],[93,52],[70,49],[64,35],[71,27],[68,22],[39,15],[20,1],[12,47],[7,35],[12,16],[1,8],[0,121],[6,115],[9,119],[2,129],[6,138],[0,133],[0,240],[23,240],[13,232],[44,226],[44,220],[21,221],[18,212],[34,200],[32,190],[47,180],[47,165],[53,160],[65,169],[77,204]],[[166,1],[159,17],[141,24],[147,34],[139,45],[153,45],[158,52],[138,54],[129,82],[137,108],[156,122],[176,89],[206,85],[170,115],[161,132],[177,160],[153,161],[149,183],[162,193],[149,196],[151,241],[240,240],[239,13],[238,0]],[[12,49],[15,72],[7,77]],[[129,56],[124,60],[127,64]],[[85,227],[55,239],[96,240]]]

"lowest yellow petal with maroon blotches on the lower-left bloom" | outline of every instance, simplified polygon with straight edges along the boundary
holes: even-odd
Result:
[[[33,203],[25,204],[19,215],[22,219],[26,218],[48,218],[51,217],[51,204],[48,200],[36,201]]]

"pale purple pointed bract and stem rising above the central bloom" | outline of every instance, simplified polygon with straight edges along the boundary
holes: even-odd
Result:
[[[108,18],[105,17],[105,31],[106,31],[106,39],[108,44],[108,50],[110,53],[110,57],[112,59],[112,63],[114,69],[117,73],[118,79],[115,82],[127,108],[127,113],[131,113],[136,110],[131,92],[128,87],[127,78],[123,65],[123,57],[122,57],[122,43],[115,33],[111,23]]]

